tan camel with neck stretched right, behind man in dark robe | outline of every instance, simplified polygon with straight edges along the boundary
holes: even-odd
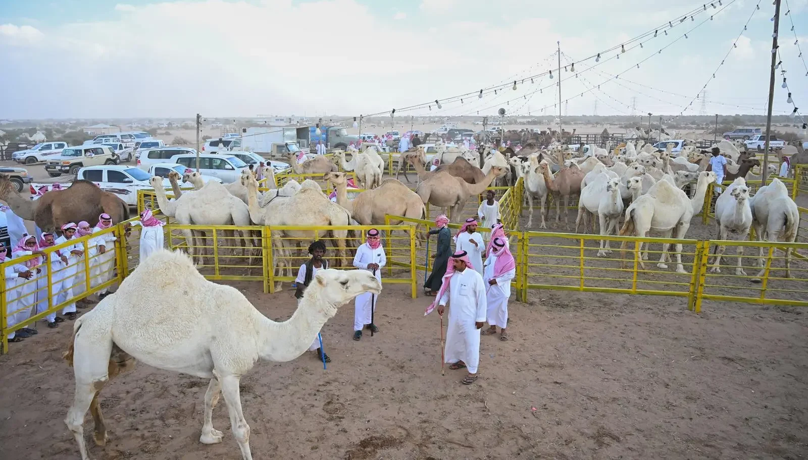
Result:
[[[415,193],[421,197],[423,203],[430,203],[437,207],[448,207],[449,219],[458,220],[469,197],[482,194],[494,178],[499,174],[503,174],[504,171],[504,168],[492,166],[488,174],[486,174],[486,178],[476,184],[469,184],[469,182],[465,182],[461,178],[456,178],[445,171],[441,171],[421,182],[418,188],[415,189]]]

